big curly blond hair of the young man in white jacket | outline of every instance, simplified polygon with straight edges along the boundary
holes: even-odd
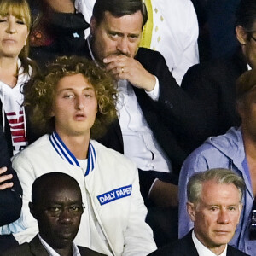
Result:
[[[24,105],[32,125],[41,135],[55,131],[55,118],[51,111],[56,85],[63,77],[78,73],[84,75],[96,92],[98,112],[90,130],[90,137],[102,137],[108,125],[116,118],[117,87],[113,78],[93,61],[78,56],[62,56],[49,64],[45,73],[38,73],[24,86]]]

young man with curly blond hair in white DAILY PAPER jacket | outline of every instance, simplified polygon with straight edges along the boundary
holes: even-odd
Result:
[[[13,160],[24,195],[20,219],[9,225],[15,238],[29,241],[38,232],[28,209],[33,181],[64,172],[78,181],[85,206],[76,244],[107,255],[154,251],[136,165],[90,139],[115,118],[113,79],[93,62],[62,57],[29,87],[25,104],[35,127],[47,134]]]

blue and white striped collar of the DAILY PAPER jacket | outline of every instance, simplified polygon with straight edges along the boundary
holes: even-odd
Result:
[[[76,159],[76,157],[70,152],[70,150],[67,148],[67,146],[63,143],[61,140],[61,137],[58,135],[56,131],[54,131],[49,136],[49,141],[52,144],[53,148],[55,148],[55,151],[61,156],[63,160],[66,160],[70,165],[78,166],[79,161]],[[89,149],[88,149],[88,163],[85,175],[88,175],[90,172],[93,171],[96,161],[96,151],[95,148],[92,146],[91,143],[89,143]]]

